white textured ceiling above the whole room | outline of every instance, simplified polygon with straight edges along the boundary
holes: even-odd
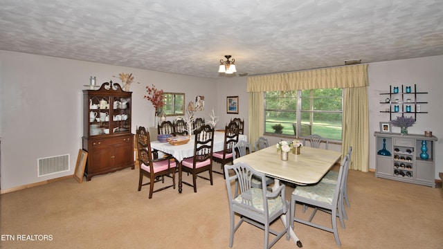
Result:
[[[0,0],[0,50],[260,75],[443,55],[442,0]]]

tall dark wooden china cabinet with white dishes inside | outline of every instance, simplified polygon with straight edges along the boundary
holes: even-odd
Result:
[[[134,169],[134,135],[131,133],[132,92],[105,82],[98,90],[83,90],[82,147],[88,151],[84,176]]]

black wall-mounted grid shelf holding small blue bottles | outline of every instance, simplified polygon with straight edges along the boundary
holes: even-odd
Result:
[[[417,120],[418,113],[428,113],[422,111],[422,104],[428,104],[428,102],[420,101],[421,95],[427,94],[424,92],[417,92],[417,84],[414,86],[389,86],[389,93],[380,93],[385,95],[386,99],[381,101],[380,104],[385,104],[385,111],[381,113],[389,113],[389,120],[392,120],[392,116],[413,116]]]

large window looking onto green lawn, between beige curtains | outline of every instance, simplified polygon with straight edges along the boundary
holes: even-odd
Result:
[[[298,138],[315,133],[341,141],[342,89],[269,91],[264,100],[266,133]]]

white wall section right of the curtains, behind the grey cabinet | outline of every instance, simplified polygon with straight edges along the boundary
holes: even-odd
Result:
[[[424,134],[424,131],[433,131],[433,136],[438,138],[435,146],[435,178],[438,172],[443,172],[443,55],[421,57],[415,59],[401,59],[390,62],[371,63],[368,67],[369,82],[368,98],[370,107],[370,168],[375,168],[375,138],[374,131],[379,131],[379,122],[389,121],[389,113],[380,113],[386,104],[380,104],[386,99],[389,85],[413,86],[417,84],[417,91],[428,92],[418,95],[419,101],[428,102],[421,104],[422,111],[428,113],[417,114],[417,122],[408,128],[408,133]],[[399,133],[399,127],[392,127],[392,132]]]

